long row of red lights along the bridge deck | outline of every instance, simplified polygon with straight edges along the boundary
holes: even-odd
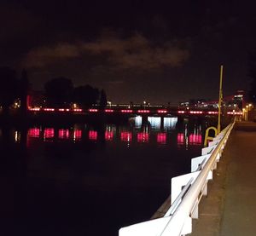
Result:
[[[148,107],[147,107],[148,108]],[[38,113],[73,113],[73,114],[130,114],[142,116],[212,116],[218,115],[217,111],[213,110],[180,110],[177,108],[166,109],[70,109],[70,108],[49,108],[49,107],[29,107],[30,112]],[[242,115],[242,112],[227,112],[228,115]]]

